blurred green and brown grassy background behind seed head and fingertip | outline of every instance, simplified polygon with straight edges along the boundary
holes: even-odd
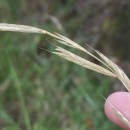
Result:
[[[61,33],[103,52],[130,75],[129,0],[0,0],[0,22]],[[104,99],[125,90],[51,50],[46,36],[0,32],[0,129],[119,130]]]

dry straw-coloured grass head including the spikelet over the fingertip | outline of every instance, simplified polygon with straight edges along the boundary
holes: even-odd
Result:
[[[97,50],[93,49],[100,56],[100,58],[93,55],[88,50],[81,47],[79,44],[77,44],[76,42],[70,40],[69,38],[67,38],[65,36],[62,36],[62,35],[57,34],[57,33],[51,33],[51,32],[48,32],[46,30],[39,29],[39,28],[32,27],[32,26],[0,23],[0,31],[46,34],[46,35],[52,37],[59,44],[64,44],[65,46],[69,46],[69,47],[78,49],[78,50],[86,53],[87,55],[95,58],[96,60],[101,62],[103,65],[105,65],[105,67],[97,65],[95,63],[92,63],[91,61],[88,61],[87,59],[83,59],[82,57],[80,57],[80,56],[78,56],[78,55],[76,55],[68,50],[65,50],[64,48],[59,47],[59,46],[56,46],[55,51],[52,53],[66,59],[68,61],[74,62],[74,63],[81,65],[85,68],[88,68],[90,70],[93,70],[93,71],[96,71],[98,73],[108,75],[111,77],[116,77],[124,84],[124,86],[130,92],[130,80],[126,76],[126,74],[123,72],[123,70]],[[118,117],[121,119],[121,121],[123,123],[125,123],[130,128],[130,121],[128,121],[125,118],[125,116],[119,110],[116,109],[116,107],[114,107],[113,105],[112,105],[112,107],[115,110]]]

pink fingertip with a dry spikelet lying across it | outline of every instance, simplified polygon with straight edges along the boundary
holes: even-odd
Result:
[[[106,116],[113,123],[123,128],[123,130],[130,130],[130,127],[126,125],[117,115],[112,105],[119,110],[130,122],[130,93],[129,92],[116,92],[111,94],[104,105]]]

